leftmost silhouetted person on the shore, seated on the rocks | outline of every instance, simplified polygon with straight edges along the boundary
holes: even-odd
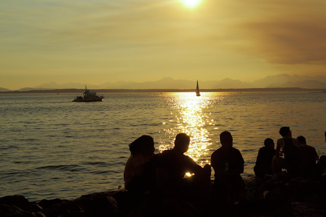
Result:
[[[123,177],[128,191],[147,191],[155,181],[155,168],[152,163],[154,141],[150,135],[142,135],[129,145],[131,152],[126,162]]]

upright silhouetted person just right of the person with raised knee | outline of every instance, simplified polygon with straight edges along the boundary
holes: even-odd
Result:
[[[213,205],[233,206],[239,204],[243,195],[244,182],[240,174],[243,173],[244,160],[240,151],[232,147],[230,132],[222,132],[220,140],[222,147],[213,152],[210,160],[215,171]]]

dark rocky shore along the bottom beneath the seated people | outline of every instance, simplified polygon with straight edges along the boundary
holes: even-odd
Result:
[[[326,156],[317,163],[316,179],[289,178],[285,172],[270,180],[248,176],[238,216],[326,216]],[[30,202],[21,195],[0,198],[0,216],[221,216],[218,205],[205,213],[176,198],[157,200],[147,193],[132,194],[121,188],[98,192],[74,200]]]

